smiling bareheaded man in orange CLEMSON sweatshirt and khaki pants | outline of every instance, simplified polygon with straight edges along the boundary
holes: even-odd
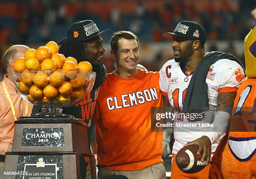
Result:
[[[151,131],[151,107],[162,107],[159,73],[136,68],[139,40],[129,31],[110,39],[117,70],[107,75],[95,108],[98,178],[165,179],[163,133]]]

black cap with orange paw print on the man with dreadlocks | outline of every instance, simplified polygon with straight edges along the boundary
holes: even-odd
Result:
[[[97,25],[92,20],[78,20],[69,27],[67,37],[59,41],[58,44],[63,45],[70,42],[89,40],[108,30],[109,29],[106,29],[100,32]]]

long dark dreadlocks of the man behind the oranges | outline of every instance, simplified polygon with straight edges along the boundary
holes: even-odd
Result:
[[[87,59],[85,59],[84,44],[82,41],[70,42],[61,45],[59,48],[59,53],[62,53],[66,57],[71,56],[76,58],[77,63],[81,61],[87,61]],[[107,75],[106,67],[103,65],[101,61],[100,65],[92,64],[92,71],[96,72],[96,79],[93,89],[97,89],[98,87],[102,86],[102,83],[105,80],[105,76]]]

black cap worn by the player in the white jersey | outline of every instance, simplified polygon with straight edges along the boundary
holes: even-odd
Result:
[[[163,33],[163,36],[166,38],[172,38],[174,35],[182,38],[200,40],[202,44],[205,44],[206,41],[205,29],[198,23],[192,21],[181,21],[177,24],[173,33]]]

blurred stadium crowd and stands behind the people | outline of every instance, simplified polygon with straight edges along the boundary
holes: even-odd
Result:
[[[107,72],[109,39],[117,30],[138,35],[140,62],[149,71],[159,71],[173,58],[171,41],[162,33],[173,31],[181,20],[192,20],[205,28],[205,51],[223,51],[244,63],[243,40],[256,25],[250,12],[255,0],[1,0],[0,1],[0,80],[3,78],[3,53],[15,44],[38,48],[48,41],[58,42],[77,20],[93,20],[102,34]]]

